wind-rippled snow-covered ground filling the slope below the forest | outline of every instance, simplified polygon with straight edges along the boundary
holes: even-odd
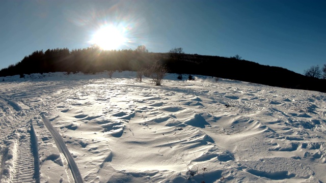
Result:
[[[326,94],[135,75],[0,77],[0,182],[326,182]]]

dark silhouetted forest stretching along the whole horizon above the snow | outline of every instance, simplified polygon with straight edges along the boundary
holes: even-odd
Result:
[[[326,92],[326,80],[307,77],[280,67],[264,66],[235,57],[180,53],[152,53],[136,50],[103,51],[96,46],[84,49],[34,51],[20,62],[0,71],[0,76],[48,72],[138,71],[160,60],[170,73],[200,74],[286,88]]]

